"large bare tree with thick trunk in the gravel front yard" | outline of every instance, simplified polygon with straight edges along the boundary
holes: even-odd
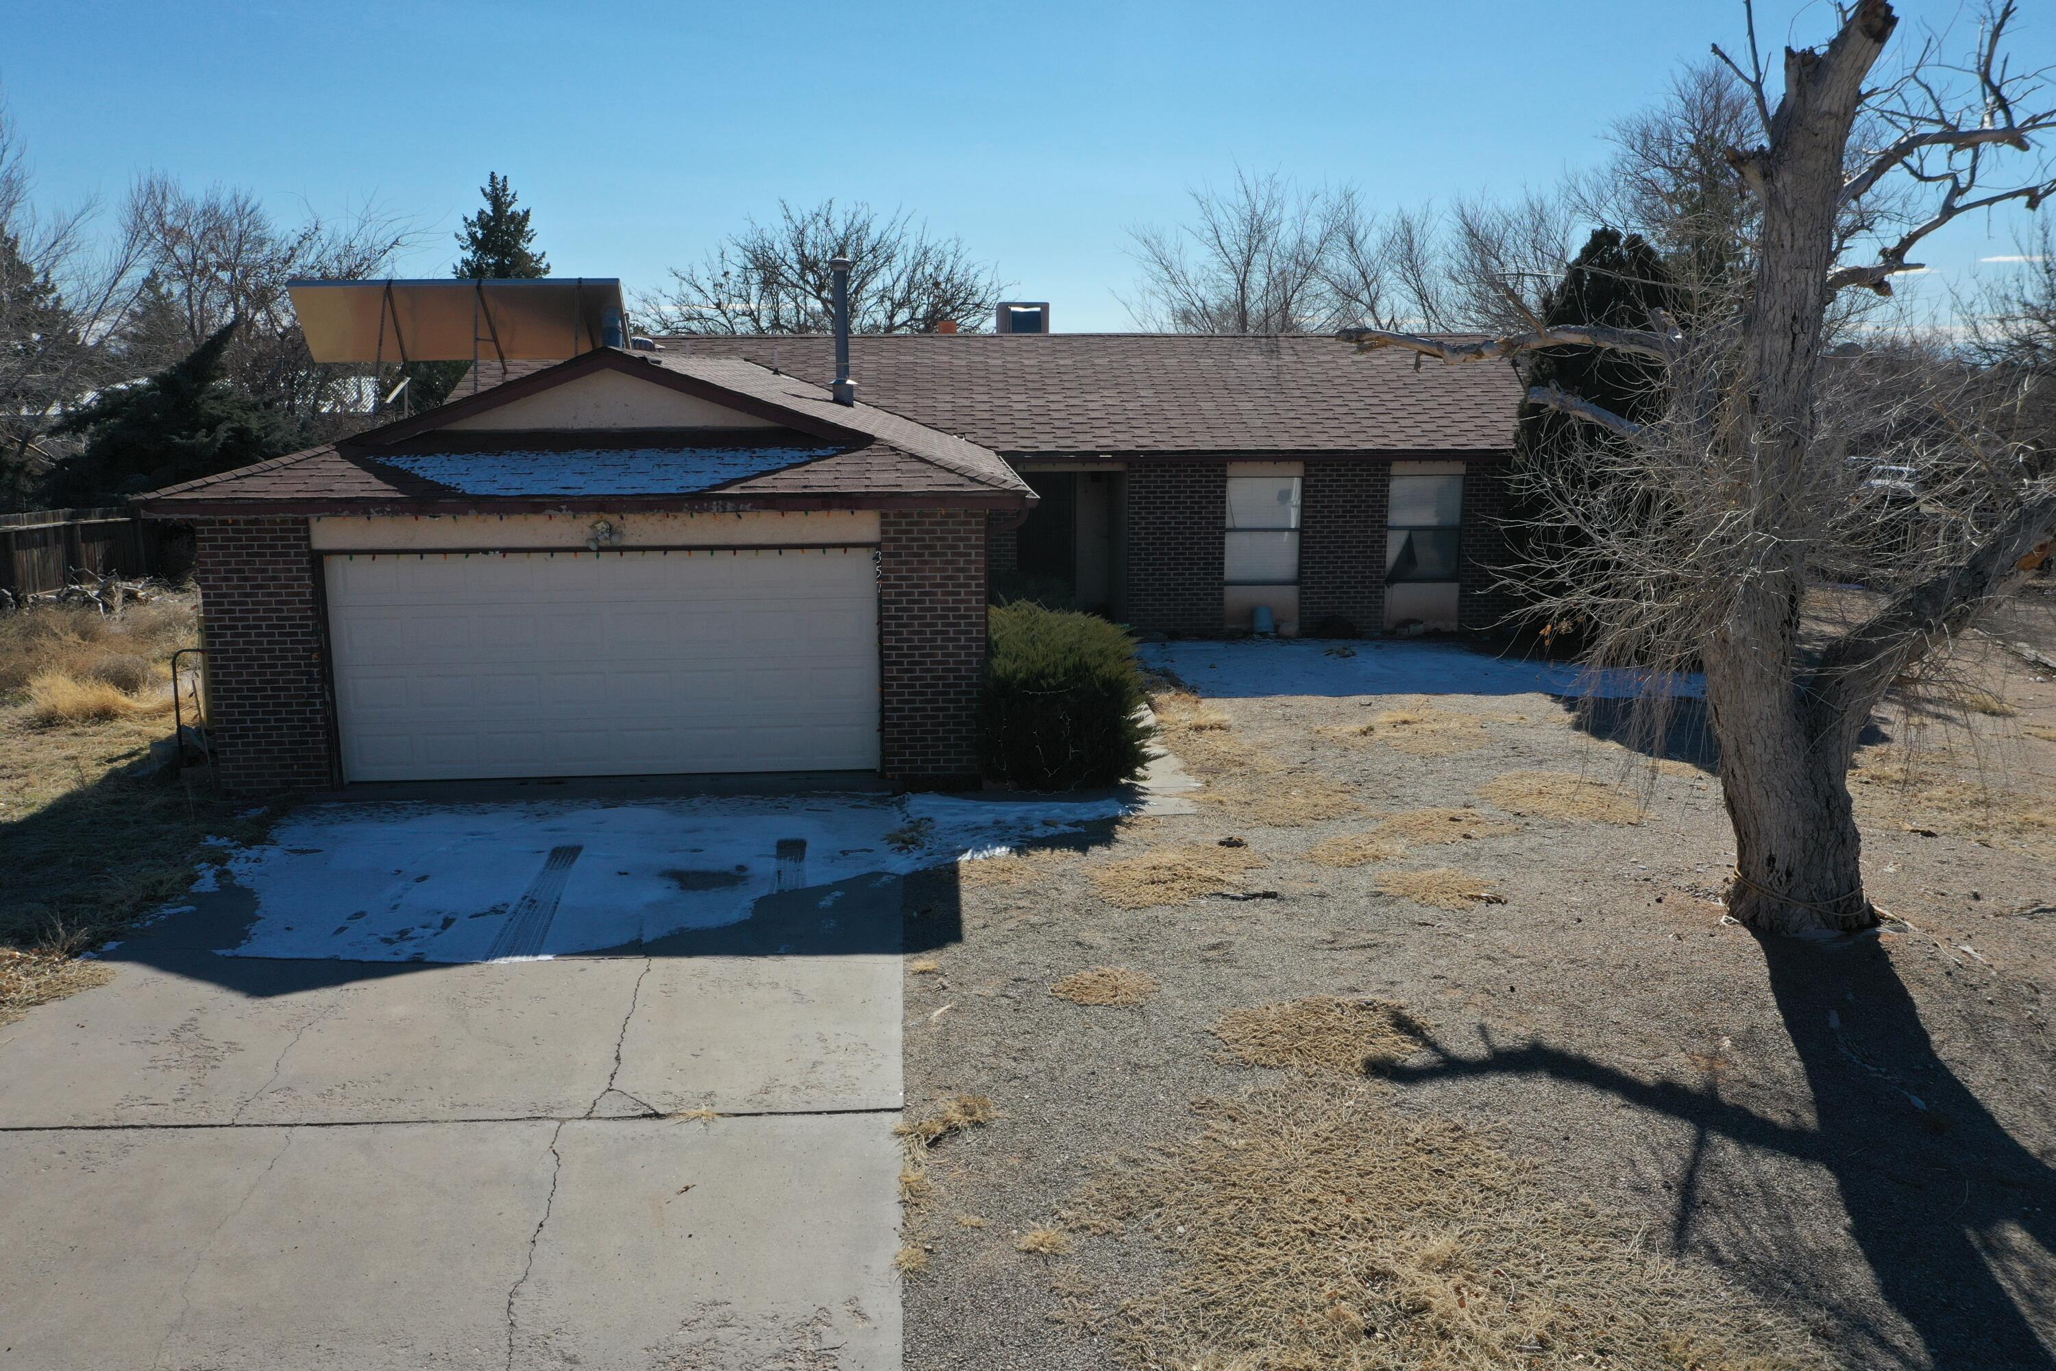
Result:
[[[1552,606],[1589,621],[1602,666],[1704,668],[1735,830],[1731,909],[1758,929],[1875,923],[1846,785],[1859,734],[1894,680],[2056,534],[2056,483],[1984,423],[1959,366],[1828,345],[1840,292],[1889,292],[1943,224],[2056,193],[2046,156],[1994,183],[2003,152],[2033,158],[2056,132],[2048,74],[2007,66],[2011,18],[2011,4],[1990,10],[1957,66],[1922,49],[1904,76],[1873,84],[1898,16],[1859,0],[1830,43],[1787,49],[1774,107],[1754,16],[1746,64],[1717,47],[1754,115],[1750,138],[1723,150],[1748,203],[1733,245],[1746,269],[1725,294],[1715,277],[1696,284],[1706,296],[1690,327],[1657,312],[1647,329],[1532,323],[1468,345],[1345,333],[1456,364],[1558,345],[1661,364],[1667,403],[1645,425],[1530,393],[1628,440],[1591,446],[1616,465],[1612,479],[1540,491],[1548,516],[1589,541],[1563,578],[1577,588]],[[1929,203],[1871,214],[1894,185]],[[1887,508],[1894,483],[1873,475],[1885,454],[1916,471],[1910,510]],[[1809,637],[1809,592],[1857,573],[1877,594],[1846,627]]]

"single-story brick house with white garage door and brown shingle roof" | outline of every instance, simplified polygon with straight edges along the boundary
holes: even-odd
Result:
[[[224,785],[977,773],[993,576],[1141,633],[1482,627],[1519,384],[1320,337],[485,362],[189,520]]]

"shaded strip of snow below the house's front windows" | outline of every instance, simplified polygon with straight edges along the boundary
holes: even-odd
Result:
[[[1336,652],[1347,647],[1347,656]],[[1649,691],[1704,695],[1698,674],[1591,670],[1563,662],[1495,658],[1456,643],[1271,639],[1147,643],[1143,664],[1201,695],[1565,695],[1635,699]]]

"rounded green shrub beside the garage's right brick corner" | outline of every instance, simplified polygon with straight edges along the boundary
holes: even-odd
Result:
[[[987,615],[985,773],[1026,789],[1118,785],[1147,761],[1135,639],[1096,615],[1030,600]]]

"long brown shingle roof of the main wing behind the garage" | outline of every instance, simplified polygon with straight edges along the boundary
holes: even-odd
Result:
[[[816,384],[824,335],[666,337],[666,368],[748,358]],[[1511,366],[1443,366],[1332,337],[1215,333],[917,333],[851,343],[857,395],[1007,454],[1503,452],[1521,384]],[[518,376],[526,364],[514,364]],[[493,384],[502,370],[479,368]]]

